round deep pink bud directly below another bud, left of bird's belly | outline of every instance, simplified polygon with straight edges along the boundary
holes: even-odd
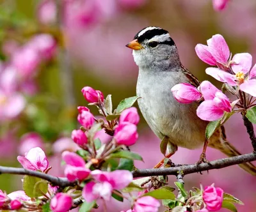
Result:
[[[114,138],[119,145],[131,146],[135,144],[138,139],[137,126],[129,122],[121,123],[115,129]]]

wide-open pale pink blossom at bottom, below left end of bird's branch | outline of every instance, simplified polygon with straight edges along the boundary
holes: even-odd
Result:
[[[97,183],[91,181],[84,186],[82,195],[87,202],[92,202],[99,197],[109,201],[114,189],[125,188],[132,181],[132,174],[128,170],[115,170],[113,172],[93,170],[91,174]]]

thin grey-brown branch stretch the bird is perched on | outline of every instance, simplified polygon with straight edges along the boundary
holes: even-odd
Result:
[[[214,160],[209,163],[201,163],[200,165],[186,165],[181,167],[163,168],[163,169],[138,169],[132,172],[134,178],[147,177],[147,176],[160,176],[160,175],[175,175],[180,171],[183,175],[191,174],[195,172],[202,172],[204,170],[222,169],[230,165],[236,165],[239,163],[252,162],[256,160],[256,153],[250,153],[246,155],[239,155],[230,158],[223,158]]]

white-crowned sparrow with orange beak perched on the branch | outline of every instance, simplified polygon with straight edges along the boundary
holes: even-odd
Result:
[[[138,106],[157,137],[168,141],[167,158],[178,147],[197,149],[202,146],[197,164],[209,163],[205,155],[207,146],[227,156],[241,155],[228,142],[224,126],[218,128],[209,140],[205,139],[205,128],[209,122],[196,115],[200,102],[182,104],[173,97],[171,89],[176,84],[188,83],[198,87],[200,81],[180,62],[177,46],[168,31],[156,26],[145,27],[126,47],[132,49],[134,62],[139,68],[136,85],[136,95],[140,96]],[[161,167],[163,160],[154,168]],[[256,175],[256,167],[252,163],[239,166]]]

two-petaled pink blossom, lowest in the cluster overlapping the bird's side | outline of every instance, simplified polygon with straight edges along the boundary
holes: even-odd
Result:
[[[231,104],[225,94],[218,90],[209,81],[200,84],[200,90],[205,101],[202,102],[196,114],[205,121],[215,121],[220,119],[224,112],[231,112]]]

